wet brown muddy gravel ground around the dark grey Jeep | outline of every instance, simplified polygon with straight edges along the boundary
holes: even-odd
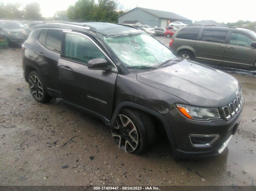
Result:
[[[245,99],[224,152],[176,162],[167,140],[158,138],[144,155],[128,154],[101,120],[61,99],[36,102],[21,56],[19,48],[0,49],[0,185],[255,185],[255,72],[223,69],[238,79]]]

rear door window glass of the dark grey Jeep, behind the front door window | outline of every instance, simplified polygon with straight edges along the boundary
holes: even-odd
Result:
[[[48,29],[45,46],[60,53],[62,33],[62,30]]]

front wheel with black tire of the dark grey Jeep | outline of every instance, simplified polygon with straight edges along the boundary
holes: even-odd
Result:
[[[131,120],[131,122],[129,122],[129,119]],[[124,123],[121,120],[124,120],[124,122],[127,123],[126,126],[121,127]],[[129,128],[135,128],[136,132],[135,130],[128,130],[125,133],[125,130]],[[133,154],[142,154],[143,152],[147,151],[150,145],[155,141],[155,127],[151,118],[147,113],[135,109],[124,108],[118,115],[116,126],[111,129],[111,132],[115,143],[126,152],[130,152]],[[126,136],[129,132],[135,133],[134,135]],[[132,136],[137,138],[135,138],[137,140],[137,143],[132,140]],[[126,142],[128,142],[128,139],[130,139],[130,142],[133,141],[131,142],[131,144],[133,144],[133,147],[131,147],[131,144],[126,144]]]

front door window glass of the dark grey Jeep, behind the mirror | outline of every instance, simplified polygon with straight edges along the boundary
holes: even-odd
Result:
[[[105,58],[105,55],[88,38],[73,33],[66,33],[64,58],[71,59],[87,65],[95,58]]]

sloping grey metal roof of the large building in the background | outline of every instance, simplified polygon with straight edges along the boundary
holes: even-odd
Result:
[[[153,14],[156,17],[159,17],[159,18],[170,18],[170,19],[179,19],[179,20],[192,21],[191,19],[182,17],[181,15],[178,15],[178,14],[173,13],[173,12],[168,12],[168,11],[159,11],[159,10],[155,10],[155,9],[148,9],[148,8],[142,8],[142,7],[135,7],[133,9],[131,9],[130,11],[132,11],[132,10],[134,10],[136,8],[137,9],[141,9],[143,11],[146,11],[146,12],[148,12],[150,14]],[[129,11],[127,11],[127,12],[129,12]],[[123,15],[123,14],[121,14],[121,15]],[[120,17],[121,15],[119,15],[118,17]]]

